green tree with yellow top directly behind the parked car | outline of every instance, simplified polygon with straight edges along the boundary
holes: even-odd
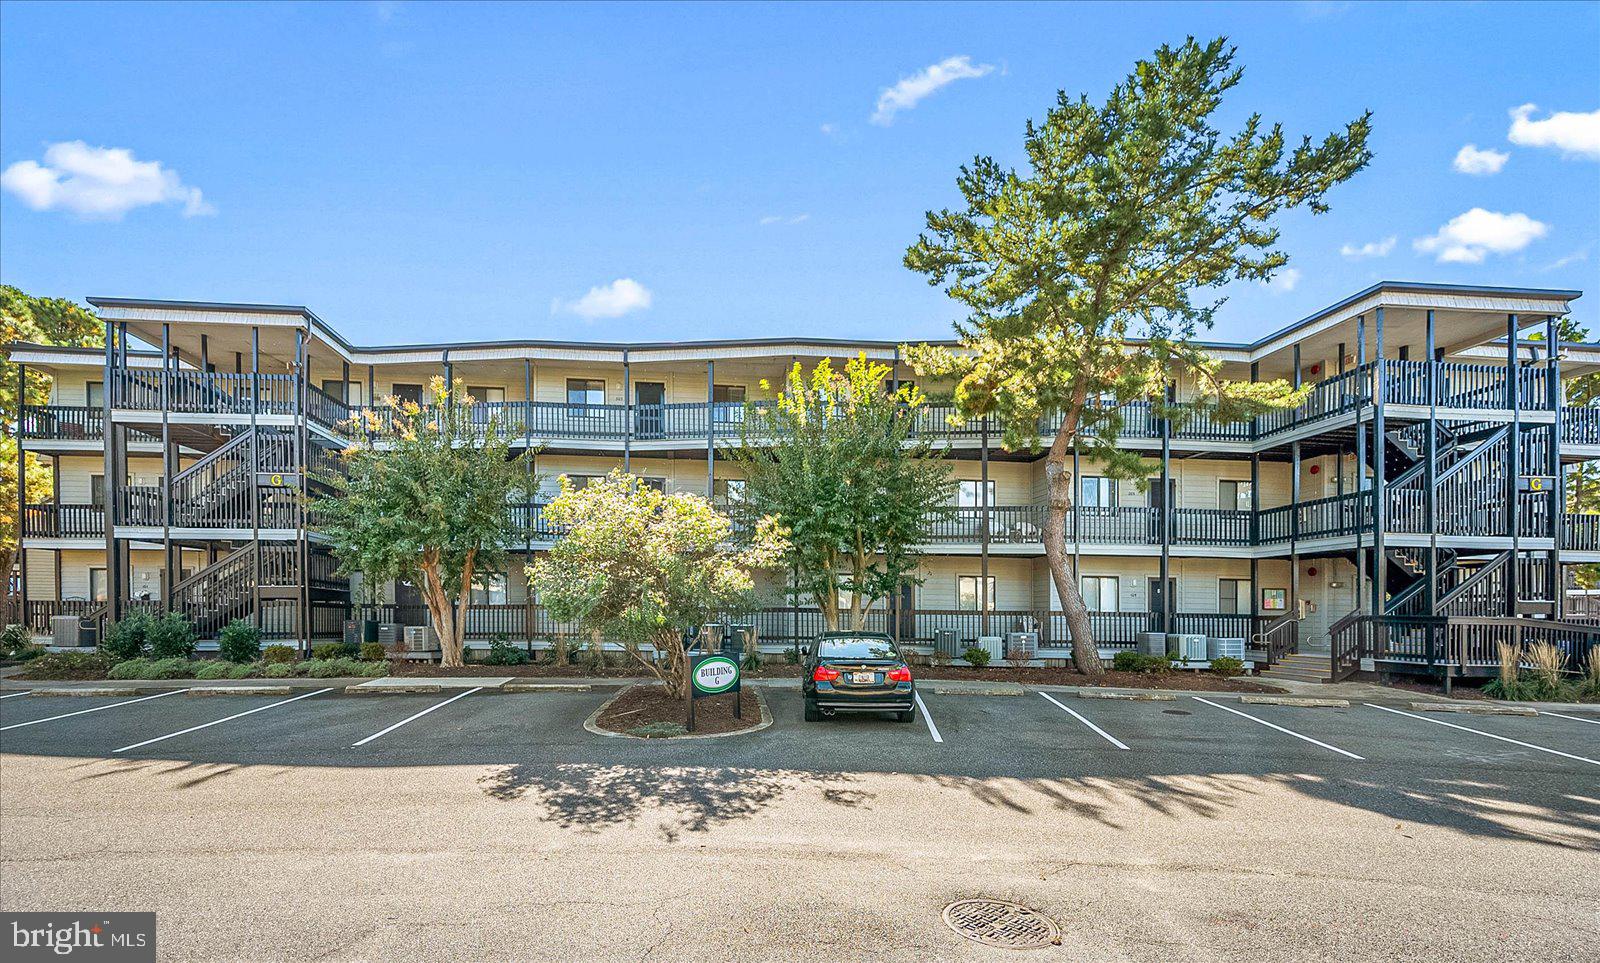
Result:
[[[746,406],[726,448],[744,507],[782,523],[795,590],[829,630],[864,629],[874,603],[917,581],[915,547],[955,494],[942,453],[915,430],[922,390],[888,379],[864,354],[843,373],[827,358],[810,374],[795,363],[774,400]]]

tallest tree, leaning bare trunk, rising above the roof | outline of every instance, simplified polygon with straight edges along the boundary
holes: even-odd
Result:
[[[1200,296],[1269,280],[1288,262],[1274,218],[1326,211],[1326,192],[1371,158],[1366,114],[1320,144],[1290,147],[1259,115],[1224,134],[1213,115],[1240,75],[1226,40],[1190,37],[1138,62],[1104,104],[1059,93],[1027,125],[1027,170],[990,157],[963,166],[965,205],[930,211],[906,253],[970,312],[957,349],[907,349],[917,373],[954,379],[960,414],[997,421],[1008,448],[1037,446],[1042,424],[1053,432],[1045,553],[1082,672],[1101,662],[1066,549],[1074,446],[1142,483],[1141,459],[1117,445],[1118,405],[1237,421],[1299,403],[1282,381],[1219,376],[1192,338],[1221,299]],[[1194,394],[1181,408],[1166,405],[1178,381]]]

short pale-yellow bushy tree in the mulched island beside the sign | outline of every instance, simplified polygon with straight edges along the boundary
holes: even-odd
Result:
[[[544,520],[562,531],[528,566],[544,609],[622,643],[680,699],[688,697],[685,632],[747,608],[752,571],[784,550],[773,518],[742,537],[704,496],[666,494],[621,470],[584,488],[563,475]]]

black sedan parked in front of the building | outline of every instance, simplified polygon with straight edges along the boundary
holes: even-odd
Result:
[[[835,712],[893,712],[899,721],[917,718],[910,665],[888,635],[824,632],[806,653],[800,685],[806,721]]]

